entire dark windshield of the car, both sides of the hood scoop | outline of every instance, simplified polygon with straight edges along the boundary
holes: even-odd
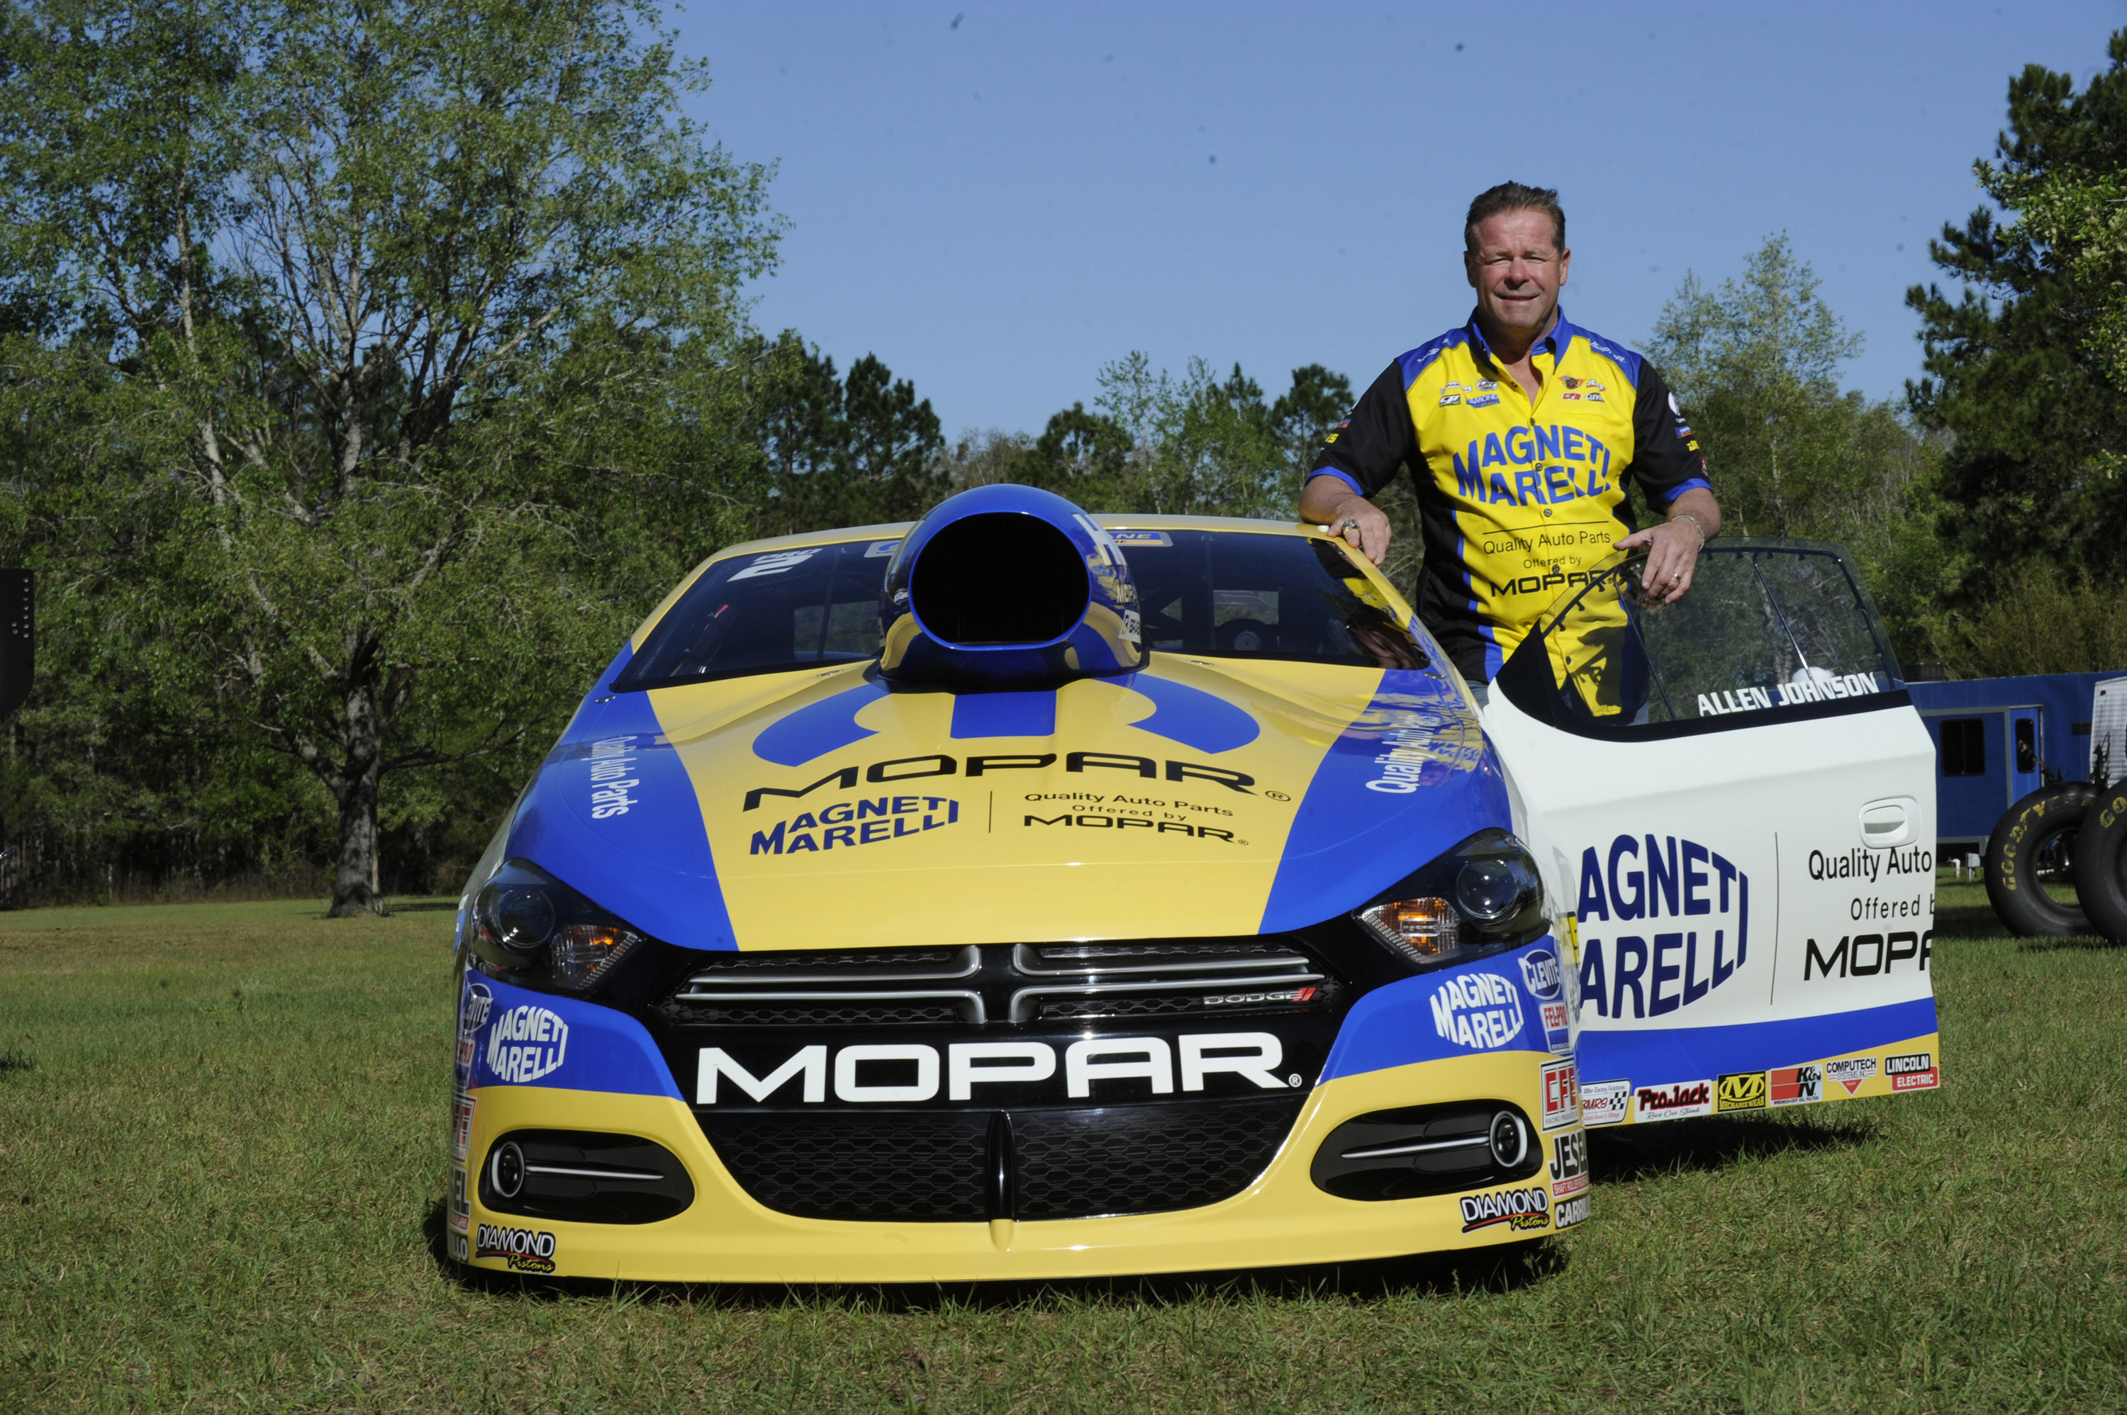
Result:
[[[1153,651],[1425,668],[1425,653],[1334,545],[1217,530],[1115,532]],[[878,596],[900,540],[734,555],[657,621],[615,692],[878,657]],[[1008,592],[1008,585],[1000,589]]]

